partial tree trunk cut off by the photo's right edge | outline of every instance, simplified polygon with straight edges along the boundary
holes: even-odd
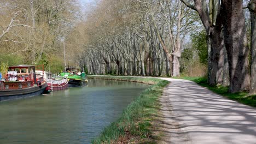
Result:
[[[250,93],[256,94],[256,0],[249,3],[251,13],[251,88]]]

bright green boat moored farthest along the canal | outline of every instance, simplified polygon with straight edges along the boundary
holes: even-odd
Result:
[[[85,73],[79,74],[71,74],[68,72],[60,73],[59,76],[66,77],[69,79],[68,87],[83,87],[86,86],[88,83],[87,76]]]

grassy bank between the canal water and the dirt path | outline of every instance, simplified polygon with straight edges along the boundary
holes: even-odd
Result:
[[[148,83],[150,86],[126,107],[117,122],[104,128],[92,143],[156,143],[154,120],[158,116],[158,98],[168,81],[154,78],[88,76],[89,79],[108,79]]]

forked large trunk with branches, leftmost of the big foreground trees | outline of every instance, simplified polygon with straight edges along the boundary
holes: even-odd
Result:
[[[214,5],[210,5],[211,17],[208,12],[206,0],[194,0],[194,5],[182,1],[187,7],[194,9],[200,16],[203,26],[206,29],[207,34],[207,49],[208,49],[208,83],[210,85],[222,85],[221,77],[223,77],[223,47],[220,34],[221,34],[221,20],[220,16],[217,16],[216,26],[213,25],[213,8]],[[210,1],[213,4],[213,1]],[[219,14],[218,14],[219,15]],[[217,34],[217,35],[215,35]],[[219,47],[220,46],[220,47]]]

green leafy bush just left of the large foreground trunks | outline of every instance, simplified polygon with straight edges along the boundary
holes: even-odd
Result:
[[[199,61],[201,64],[207,65],[207,43],[206,43],[206,32],[195,32],[191,34],[192,46],[198,51]]]

